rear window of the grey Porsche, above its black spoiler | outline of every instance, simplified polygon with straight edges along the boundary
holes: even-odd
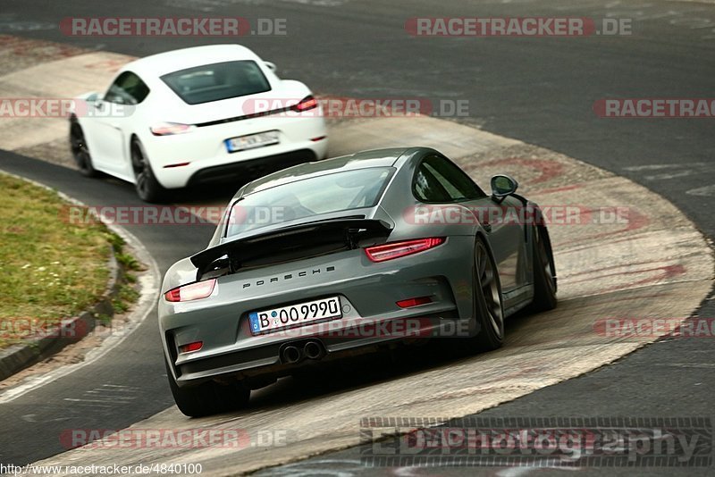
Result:
[[[394,171],[373,167],[335,172],[250,194],[232,206],[226,237],[322,213],[374,207]]]

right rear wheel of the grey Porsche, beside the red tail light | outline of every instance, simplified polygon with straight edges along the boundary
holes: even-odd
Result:
[[[470,339],[470,348],[491,351],[504,344],[504,304],[499,272],[484,238],[476,238],[474,260],[476,335]]]

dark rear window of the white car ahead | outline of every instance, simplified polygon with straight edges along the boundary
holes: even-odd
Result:
[[[271,90],[263,71],[252,60],[205,64],[165,74],[161,79],[189,105]]]

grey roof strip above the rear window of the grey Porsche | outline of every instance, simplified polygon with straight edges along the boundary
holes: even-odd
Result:
[[[408,152],[411,147],[391,147],[386,149],[372,149],[360,151],[352,155],[341,155],[324,161],[313,163],[302,163],[294,165],[279,172],[273,172],[261,179],[249,182],[236,194],[235,198],[248,196],[267,188],[274,188],[282,184],[288,184],[296,180],[304,180],[310,177],[331,174],[333,172],[352,171],[366,169],[368,167],[390,167],[394,165],[400,156]]]

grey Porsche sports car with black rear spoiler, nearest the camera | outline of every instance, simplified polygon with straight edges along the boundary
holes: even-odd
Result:
[[[504,319],[556,306],[551,242],[517,182],[486,194],[427,147],[305,163],[248,183],[159,300],[181,412],[244,406],[250,389],[416,339],[501,347]]]

